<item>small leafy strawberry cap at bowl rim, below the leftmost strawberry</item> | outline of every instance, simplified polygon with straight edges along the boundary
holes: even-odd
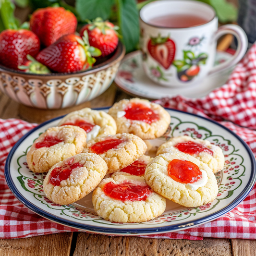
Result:
[[[27,55],[27,61],[22,66],[18,68],[25,73],[34,73],[34,74],[49,74],[51,73],[49,69],[42,63],[36,61],[31,55]]]

